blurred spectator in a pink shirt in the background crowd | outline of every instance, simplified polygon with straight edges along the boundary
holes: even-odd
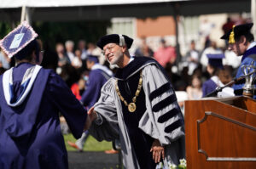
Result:
[[[167,46],[166,40],[161,38],[160,48],[154,52],[154,59],[156,59],[164,68],[168,63],[173,65],[176,61],[175,48],[172,46]]]

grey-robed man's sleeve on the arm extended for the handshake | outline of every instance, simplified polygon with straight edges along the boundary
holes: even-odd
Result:
[[[102,124],[92,122],[89,132],[98,141],[113,141],[119,138],[117,110],[113,98],[113,79],[108,80],[102,87],[101,97],[94,105],[98,115],[101,115]]]

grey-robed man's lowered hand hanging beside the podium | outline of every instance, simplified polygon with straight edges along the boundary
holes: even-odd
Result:
[[[154,140],[154,142],[151,146],[151,149],[150,149],[150,152],[152,152],[152,151],[153,151],[153,160],[155,163],[160,162],[161,157],[162,157],[162,159],[165,158],[165,149],[163,146],[161,146],[158,139]]]

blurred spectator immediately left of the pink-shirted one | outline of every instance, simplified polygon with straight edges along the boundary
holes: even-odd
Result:
[[[149,48],[147,41],[146,41],[146,37],[142,37],[141,42],[142,42],[142,44],[135,51],[135,56],[153,57],[154,52],[151,48]]]

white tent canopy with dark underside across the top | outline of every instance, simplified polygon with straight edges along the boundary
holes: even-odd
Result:
[[[19,21],[22,7],[30,9],[31,20],[109,20],[250,12],[251,1],[256,0],[0,0],[0,20]]]

